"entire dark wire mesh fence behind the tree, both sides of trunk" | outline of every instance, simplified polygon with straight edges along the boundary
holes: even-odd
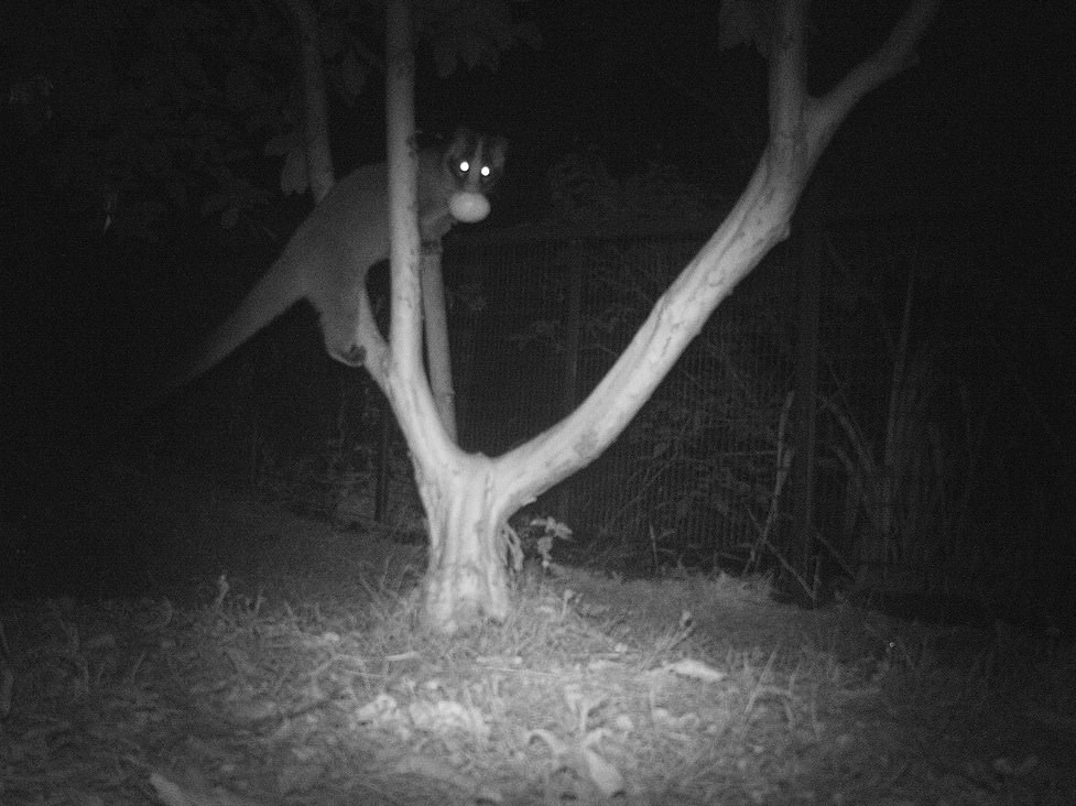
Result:
[[[529,231],[446,243],[461,446],[499,455],[578,405],[704,240]],[[943,588],[990,562],[976,524],[991,499],[972,486],[992,381],[975,380],[979,359],[963,345],[901,323],[907,266],[878,272],[893,288],[872,294],[850,290],[836,263],[817,269],[820,327],[806,341],[819,367],[811,551],[845,576],[899,573],[902,585]],[[630,571],[736,566],[793,546],[801,514],[779,493],[805,450],[790,433],[802,271],[795,243],[773,250],[615,444],[529,509]],[[203,379],[159,429],[161,453],[178,449],[232,486],[341,526],[421,538],[406,446],[380,392],[326,360],[314,333],[308,312],[290,314]]]

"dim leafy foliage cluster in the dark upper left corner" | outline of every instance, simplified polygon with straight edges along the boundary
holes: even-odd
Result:
[[[22,66],[53,76],[54,113],[22,145],[76,216],[107,211],[115,237],[152,240],[167,218],[200,208],[229,222],[265,199],[239,172],[280,119],[279,20],[238,3],[134,0],[48,19],[55,47]]]

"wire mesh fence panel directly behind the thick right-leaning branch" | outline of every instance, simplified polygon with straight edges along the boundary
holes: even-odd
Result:
[[[486,272],[485,306],[461,328],[474,345],[457,375],[464,447],[499,454],[582,402],[704,240],[459,243],[449,270]],[[779,249],[710,317],[617,442],[532,509],[633,567],[713,567],[743,554],[773,503],[794,293]]]

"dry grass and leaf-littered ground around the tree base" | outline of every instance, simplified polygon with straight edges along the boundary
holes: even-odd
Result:
[[[0,609],[0,803],[1076,798],[1072,646],[566,569],[447,640],[421,549],[274,523],[183,607]]]

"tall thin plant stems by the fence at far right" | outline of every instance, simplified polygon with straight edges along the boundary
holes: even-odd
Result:
[[[945,370],[946,356],[964,348],[913,342],[912,287],[910,280],[891,340],[884,415],[857,413],[839,393],[822,404],[836,434],[828,450],[844,472],[843,531],[855,536],[845,563],[862,581],[902,567],[919,575],[909,581],[930,586],[945,571],[941,560],[963,563],[957,541],[978,479],[983,417]]]

